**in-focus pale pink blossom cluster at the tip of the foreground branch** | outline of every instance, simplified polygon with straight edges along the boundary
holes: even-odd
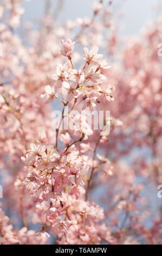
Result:
[[[55,95],[59,92],[62,96],[66,96],[67,102],[71,101],[83,102],[82,110],[89,108],[93,111],[94,108],[100,100],[105,102],[105,100],[113,101],[114,98],[111,93],[114,91],[114,87],[108,85],[105,90],[102,89],[101,85],[106,80],[106,77],[102,75],[104,69],[109,69],[105,59],[102,59],[102,55],[98,54],[98,47],[92,48],[88,51],[85,47],[83,52],[85,56],[83,59],[86,60],[85,65],[82,69],[74,69],[72,63],[72,54],[75,42],[70,39],[67,42],[62,41],[61,53],[63,56],[67,56],[70,60],[71,67],[68,64],[58,65],[56,68],[56,74],[51,78],[55,81],[54,86],[46,86],[46,94],[42,94],[41,97],[46,99],[46,103],[55,100]],[[100,100],[99,100],[100,99]],[[74,107],[73,107],[74,109]]]

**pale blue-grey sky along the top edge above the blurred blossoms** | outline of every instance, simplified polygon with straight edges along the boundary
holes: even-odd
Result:
[[[64,23],[67,19],[74,20],[76,17],[92,16],[91,5],[94,2],[93,0],[51,0],[53,13],[58,1],[63,2],[63,8],[57,17],[57,21],[61,23]],[[103,0],[103,2],[106,5],[109,1]],[[123,14],[122,22],[125,23],[125,29],[122,33],[126,35],[138,34],[147,20],[154,20],[155,17],[162,14],[162,9],[159,7],[160,4],[162,7],[162,0],[113,0],[112,2],[116,16]],[[24,2],[25,15],[23,21],[35,23],[40,19],[44,13],[45,3],[47,3],[47,0]]]

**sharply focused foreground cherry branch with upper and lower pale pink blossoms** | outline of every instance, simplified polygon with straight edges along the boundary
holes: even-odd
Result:
[[[96,227],[104,218],[103,209],[87,201],[93,173],[96,167],[100,168],[100,161],[95,160],[95,156],[102,135],[99,132],[94,149],[89,147],[89,143],[81,143],[93,135],[93,129],[82,111],[88,109],[93,112],[101,101],[113,101],[112,92],[115,89],[110,85],[102,88],[102,83],[106,82],[102,71],[110,67],[98,54],[97,47],[90,51],[83,48],[85,64],[82,69],[74,68],[72,52],[75,43],[70,39],[61,40],[60,53],[67,57],[67,62],[57,66],[56,74],[51,76],[53,86],[46,86],[46,93],[41,95],[45,103],[60,100],[63,105],[61,119],[55,129],[55,145],[38,141],[31,144],[26,157],[22,157],[28,169],[24,184],[36,203],[35,212],[43,218],[43,227],[60,237],[61,240],[57,241],[60,243],[68,240],[74,230],[75,235],[80,236],[80,229]],[[70,108],[67,114],[64,113],[66,106]],[[69,132],[60,129],[65,118],[73,123],[73,130]],[[103,123],[104,128],[106,120]],[[59,149],[58,139],[65,144],[64,149]],[[86,151],[93,151],[93,156],[85,155]],[[44,207],[46,210],[43,210]]]

